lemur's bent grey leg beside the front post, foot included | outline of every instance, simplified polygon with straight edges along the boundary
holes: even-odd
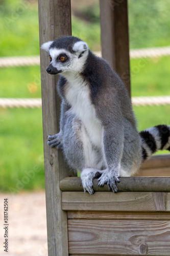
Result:
[[[92,145],[82,122],[68,120],[69,130],[63,138],[63,152],[70,166],[81,170],[84,191],[93,194],[93,179],[99,178],[106,168],[103,152]],[[69,132],[68,132],[69,131]]]

